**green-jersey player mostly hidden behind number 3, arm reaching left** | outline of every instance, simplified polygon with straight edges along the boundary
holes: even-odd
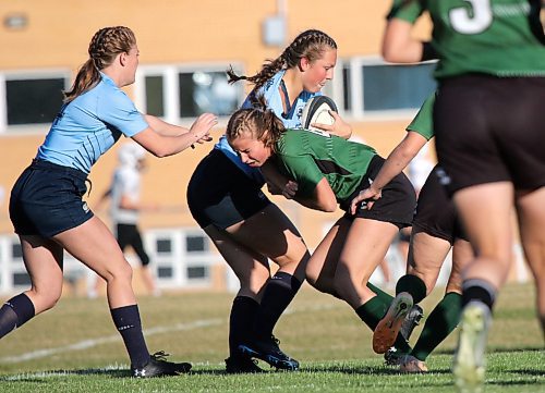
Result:
[[[434,137],[434,102],[435,93],[429,95],[416,116],[407,126],[405,137],[388,156],[373,184],[352,200],[352,209],[363,200],[367,200],[367,208],[371,209],[374,200],[380,198],[382,189],[393,176],[401,173]],[[473,250],[461,229],[453,202],[439,180],[440,168],[436,165],[419,194],[409,245],[407,274],[399,279],[396,299],[373,335],[374,340],[385,341],[383,349],[393,343],[398,332],[388,327],[398,327],[399,323],[392,321],[404,319],[411,306],[420,303],[432,292],[445,258],[452,249],[452,268],[445,288],[445,297],[429,314],[413,349],[409,354],[388,349],[385,354],[388,364],[398,364],[400,370],[404,372],[427,371],[425,364],[427,356],[458,326],[461,314],[461,272],[473,258]]]

